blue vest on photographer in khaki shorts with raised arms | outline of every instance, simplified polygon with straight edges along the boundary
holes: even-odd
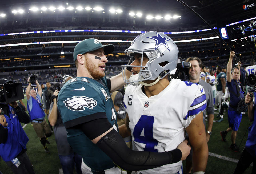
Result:
[[[40,99],[38,98],[37,95],[37,99],[39,100],[39,102],[37,102],[37,100],[35,100],[33,97],[30,96],[30,100],[32,100],[32,109],[29,108],[29,104],[27,103],[27,110],[29,111],[29,116],[30,116],[30,120],[34,120],[34,119],[38,119],[38,118],[42,118],[45,117],[45,112],[41,109],[40,105]]]

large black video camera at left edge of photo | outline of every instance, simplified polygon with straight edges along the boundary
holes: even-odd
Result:
[[[0,80],[0,104],[11,103],[20,99],[24,99],[22,83],[13,83],[7,79]]]

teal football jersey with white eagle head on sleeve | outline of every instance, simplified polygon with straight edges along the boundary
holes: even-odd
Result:
[[[58,109],[68,132],[68,142],[73,151],[83,157],[84,163],[97,170],[114,167],[113,161],[80,129],[72,129],[78,124],[107,117],[118,131],[116,111],[106,77],[100,80],[87,77],[69,80],[59,91]]]

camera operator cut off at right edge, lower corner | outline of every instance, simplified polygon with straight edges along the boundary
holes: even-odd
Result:
[[[254,93],[255,94],[255,93]],[[256,173],[256,105],[253,104],[253,93],[247,93],[245,96],[245,103],[248,104],[248,118],[250,122],[253,122],[251,127],[248,128],[248,138],[245,143],[245,148],[241,154],[241,157],[237,163],[237,167],[233,174],[243,173],[251,163],[253,163],[253,169],[251,173]]]

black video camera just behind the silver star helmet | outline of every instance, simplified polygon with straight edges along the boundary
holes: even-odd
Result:
[[[178,58],[178,64],[177,64],[177,70],[175,74],[170,74],[168,76],[169,81],[171,79],[181,79],[182,81],[185,81],[188,79],[188,72],[187,69],[191,68],[191,63],[186,62],[185,58]]]

